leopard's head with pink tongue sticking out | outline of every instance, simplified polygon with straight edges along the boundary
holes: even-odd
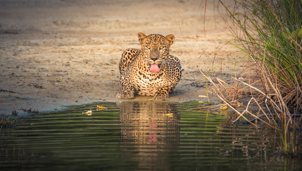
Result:
[[[150,34],[146,36],[143,33],[139,33],[137,37],[142,45],[142,60],[150,66],[150,72],[159,72],[158,67],[165,62],[165,58],[169,56],[169,48],[175,38],[174,35],[169,34],[164,37],[160,34]]]

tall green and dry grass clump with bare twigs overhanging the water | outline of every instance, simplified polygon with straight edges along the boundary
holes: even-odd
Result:
[[[294,130],[301,124],[296,117],[302,111],[302,0],[233,0],[228,6],[219,2],[226,9],[229,18],[225,21],[234,37],[228,42],[253,61],[249,67],[255,70],[247,72],[253,78],[242,83],[259,96],[253,96],[248,106],[253,102],[269,111],[261,110],[256,116],[248,107],[242,113],[233,109],[238,118],[247,113],[279,130],[284,153],[296,154]]]

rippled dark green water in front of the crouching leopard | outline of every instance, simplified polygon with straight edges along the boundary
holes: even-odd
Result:
[[[233,124],[230,110],[190,110],[198,105],[102,102],[23,117],[1,130],[0,170],[302,169],[301,158],[274,154],[272,128]]]

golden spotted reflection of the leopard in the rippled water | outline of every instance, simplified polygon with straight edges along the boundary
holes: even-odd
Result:
[[[169,163],[178,156],[176,147],[180,142],[176,106],[154,101],[120,103],[120,148],[124,164],[169,170]]]

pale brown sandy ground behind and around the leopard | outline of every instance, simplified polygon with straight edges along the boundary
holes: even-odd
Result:
[[[231,37],[222,26],[217,2],[207,2],[205,18],[204,2],[184,2],[0,0],[0,113],[121,101],[116,98],[122,90],[118,63],[123,50],[140,49],[138,32],[175,35],[170,53],[181,60],[183,72],[177,92],[168,100],[206,95],[198,62],[207,73],[213,65],[237,56],[227,56],[234,48],[223,46],[221,37]],[[215,73],[229,81],[237,72],[233,63],[226,63]],[[132,100],[149,98],[137,95]],[[218,98],[210,94],[210,100]]]

